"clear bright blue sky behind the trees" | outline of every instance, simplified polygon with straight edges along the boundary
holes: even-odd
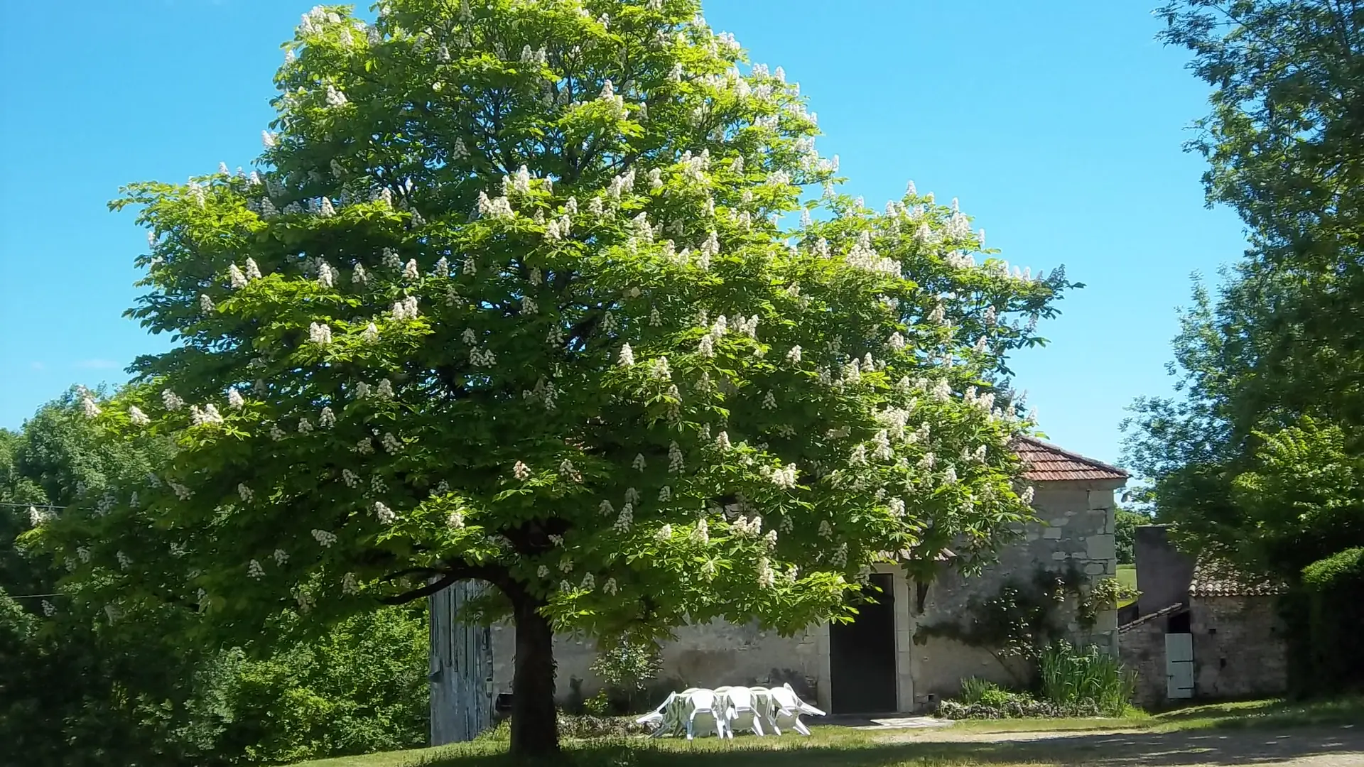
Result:
[[[1206,87],[1154,41],[1155,0],[709,0],[754,61],[820,115],[848,191],[880,207],[914,179],[960,198],[1011,263],[1088,287],[1015,358],[1048,435],[1116,460],[1163,364],[1188,276],[1240,255],[1184,154]],[[125,378],[169,344],[121,311],[145,233],[120,184],[250,167],[271,117],[278,44],[311,1],[18,3],[0,27],[0,426],[71,384]]]

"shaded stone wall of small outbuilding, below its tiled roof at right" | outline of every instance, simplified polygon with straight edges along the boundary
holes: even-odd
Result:
[[[1194,695],[1249,697],[1288,689],[1288,644],[1273,596],[1194,596]]]

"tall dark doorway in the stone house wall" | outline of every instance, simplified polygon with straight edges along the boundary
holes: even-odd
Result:
[[[829,625],[832,714],[891,714],[898,708],[891,585],[891,576],[873,575],[858,599],[857,620]]]

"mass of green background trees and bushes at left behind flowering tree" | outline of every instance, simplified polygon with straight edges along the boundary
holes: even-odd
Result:
[[[423,603],[356,616],[311,643],[258,637],[254,661],[188,641],[192,611],[162,606],[110,624],[89,600],[53,594],[64,564],[16,536],[165,461],[100,439],[80,400],[72,389],[20,431],[0,431],[0,741],[11,752],[35,767],[210,767],[426,742]]]

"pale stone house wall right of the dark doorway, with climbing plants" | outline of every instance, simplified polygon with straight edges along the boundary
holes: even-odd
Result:
[[[1033,506],[1038,521],[1020,528],[1022,540],[1000,551],[998,562],[979,576],[964,577],[944,572],[929,587],[919,625],[956,620],[973,598],[994,596],[1007,580],[1031,581],[1038,566],[1064,572],[1075,566],[1095,583],[1117,569],[1113,539],[1113,491],[1118,482],[1046,482],[1037,484]],[[1091,628],[1073,620],[1075,605],[1063,606],[1068,639],[1078,646],[1098,644],[1117,652],[1117,611],[1099,613]],[[919,636],[914,647],[911,674],[915,707],[932,707],[934,700],[960,692],[962,680],[975,676],[1003,685],[1026,684],[1026,665],[1005,667],[990,652],[945,637]]]

